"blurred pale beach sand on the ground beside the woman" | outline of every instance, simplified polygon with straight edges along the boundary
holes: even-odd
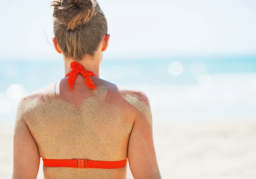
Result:
[[[0,124],[0,178],[10,179],[13,125]],[[256,121],[155,121],[154,142],[163,179],[256,179]]]

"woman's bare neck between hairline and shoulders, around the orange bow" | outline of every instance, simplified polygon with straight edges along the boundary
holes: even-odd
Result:
[[[72,69],[70,68],[70,63],[72,63],[73,61],[78,62],[79,64],[81,64],[81,66],[84,67],[84,69],[93,72],[95,75],[97,75],[97,77],[99,77],[99,60],[97,60],[96,58],[92,59],[91,57],[85,57],[79,61],[73,60],[71,58],[64,58],[65,75],[72,71]]]

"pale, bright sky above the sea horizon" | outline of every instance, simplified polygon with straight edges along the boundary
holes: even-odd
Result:
[[[52,0],[1,0],[0,59],[52,58]],[[99,0],[115,56],[256,54],[256,0]],[[44,35],[46,32],[47,38]]]

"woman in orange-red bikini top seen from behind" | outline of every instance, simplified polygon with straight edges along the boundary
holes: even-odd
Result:
[[[110,38],[99,4],[57,0],[52,6],[53,44],[66,77],[21,100],[13,178],[36,179],[40,157],[45,179],[125,179],[127,158],[135,179],[161,178],[147,96],[99,78]]]

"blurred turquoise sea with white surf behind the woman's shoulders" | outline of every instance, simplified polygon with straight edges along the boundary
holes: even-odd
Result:
[[[63,76],[61,59],[0,58],[0,122]],[[256,55],[105,59],[100,77],[145,92],[154,120],[256,119]]]

